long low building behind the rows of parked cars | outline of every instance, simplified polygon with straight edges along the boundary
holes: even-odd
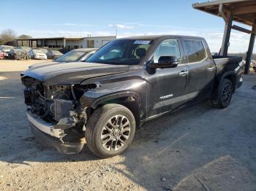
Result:
[[[116,39],[116,36],[54,37],[15,39],[17,47],[48,47],[52,49],[99,48]]]

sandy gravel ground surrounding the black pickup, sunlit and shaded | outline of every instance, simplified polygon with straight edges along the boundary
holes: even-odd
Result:
[[[16,70],[0,72],[1,190],[256,190],[254,75],[226,109],[206,101],[159,117],[123,155],[100,160],[87,147],[61,155],[37,142]]]

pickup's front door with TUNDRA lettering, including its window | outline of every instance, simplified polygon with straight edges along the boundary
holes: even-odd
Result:
[[[180,39],[164,39],[159,43],[151,61],[158,63],[161,56],[176,56],[176,68],[147,69],[147,117],[177,109],[186,101],[187,65]]]

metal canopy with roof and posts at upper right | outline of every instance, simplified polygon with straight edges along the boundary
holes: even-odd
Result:
[[[195,9],[208,12],[212,15],[217,15],[224,19],[225,31],[220,55],[227,55],[227,50],[230,45],[231,29],[251,34],[244,70],[244,74],[248,74],[256,35],[256,0],[218,0],[196,3],[192,6]],[[233,25],[233,21],[243,23],[247,26],[252,26],[252,30]]]

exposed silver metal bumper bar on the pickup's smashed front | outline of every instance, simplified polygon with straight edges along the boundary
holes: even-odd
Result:
[[[31,112],[26,112],[26,117],[28,118],[29,122],[34,125],[34,127],[41,130],[42,132],[59,139],[64,136],[64,130],[53,128],[51,123],[45,122],[39,117],[34,117]]]

